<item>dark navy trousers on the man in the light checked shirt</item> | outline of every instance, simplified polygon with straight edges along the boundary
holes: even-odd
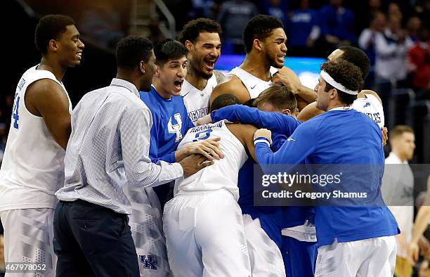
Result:
[[[86,201],[60,201],[53,220],[57,276],[139,276],[128,221]]]

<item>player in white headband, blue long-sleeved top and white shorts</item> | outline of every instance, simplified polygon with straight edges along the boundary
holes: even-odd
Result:
[[[298,163],[372,165],[374,174],[344,174],[337,187],[340,191],[365,191],[365,198],[347,198],[341,202],[344,205],[315,206],[315,276],[393,276],[394,235],[399,231],[380,193],[384,163],[381,131],[369,117],[351,108],[363,84],[361,72],[343,60],[324,63],[321,70],[315,87],[317,106],[327,112],[300,124],[277,153],[266,143],[256,143],[256,157],[261,164],[286,165],[286,171],[288,165]],[[270,131],[260,129],[255,136],[257,140],[270,139]],[[325,172],[318,168],[313,173]],[[313,188],[323,187],[315,183]]]

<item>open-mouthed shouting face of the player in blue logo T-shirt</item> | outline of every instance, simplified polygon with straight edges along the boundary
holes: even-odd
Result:
[[[170,59],[164,65],[157,65],[154,85],[163,98],[181,95],[183,81],[187,75],[187,58]]]

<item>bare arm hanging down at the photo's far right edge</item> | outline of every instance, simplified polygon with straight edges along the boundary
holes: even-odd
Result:
[[[427,193],[424,203],[419,208],[417,217],[415,218],[414,226],[412,228],[412,240],[410,241],[409,255],[412,261],[418,260],[418,240],[429,226],[430,219],[430,175],[427,178]]]

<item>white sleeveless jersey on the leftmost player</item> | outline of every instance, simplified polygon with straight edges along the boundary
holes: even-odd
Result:
[[[65,150],[49,133],[44,118],[27,110],[25,91],[39,79],[52,79],[66,95],[67,91],[52,72],[36,67],[22,75],[15,91],[11,129],[0,169],[0,211],[53,208],[55,193],[64,185]],[[70,98],[69,110],[72,112]]]

